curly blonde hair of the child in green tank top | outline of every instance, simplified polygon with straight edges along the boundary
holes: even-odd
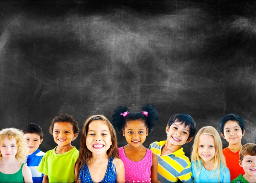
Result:
[[[17,154],[15,155],[15,158],[20,161],[20,163],[26,163],[28,149],[23,132],[15,128],[2,129],[0,131],[0,146],[3,146],[3,142],[6,137],[8,140],[11,140],[12,138],[16,140]],[[0,160],[2,159],[3,155],[0,152]]]

